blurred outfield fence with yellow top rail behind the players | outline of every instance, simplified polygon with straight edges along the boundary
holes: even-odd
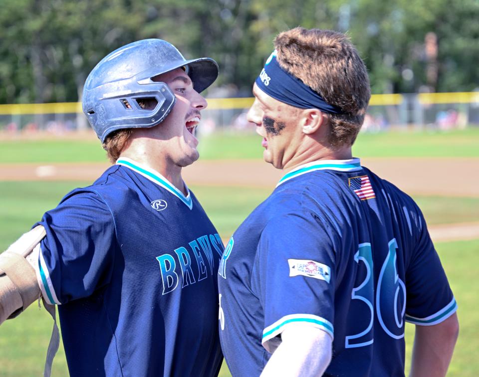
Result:
[[[208,98],[203,112],[212,129],[246,128],[246,110],[254,98]],[[465,127],[479,124],[479,92],[373,94],[364,129],[382,130],[390,126]],[[0,130],[88,127],[81,103],[0,104]]]

